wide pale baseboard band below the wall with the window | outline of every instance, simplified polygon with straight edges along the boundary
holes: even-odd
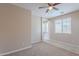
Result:
[[[66,49],[73,53],[79,54],[79,45],[73,45],[73,44],[64,43],[64,42],[60,42],[60,41],[56,41],[56,40],[53,40],[52,42],[51,41],[44,41],[44,42],[57,46],[57,47],[60,47],[60,48],[63,48],[63,49]]]

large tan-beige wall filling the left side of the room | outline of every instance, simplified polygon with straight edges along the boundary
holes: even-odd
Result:
[[[0,4],[0,54],[31,44],[31,12]]]

